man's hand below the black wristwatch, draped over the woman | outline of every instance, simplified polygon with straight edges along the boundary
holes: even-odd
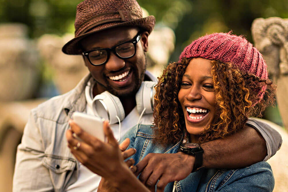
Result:
[[[195,158],[182,152],[173,154],[149,153],[140,161],[134,173],[139,176],[139,180],[155,191],[157,181],[157,191],[164,191],[169,182],[186,178],[193,170]]]

